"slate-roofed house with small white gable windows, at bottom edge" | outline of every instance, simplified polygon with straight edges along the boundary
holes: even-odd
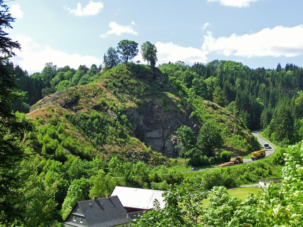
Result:
[[[129,227],[132,220],[118,196],[79,201],[64,221],[65,227]]]

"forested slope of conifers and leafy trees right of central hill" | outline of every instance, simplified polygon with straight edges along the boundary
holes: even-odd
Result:
[[[262,128],[286,146],[303,139],[303,69],[280,64],[276,69],[250,69],[234,61],[186,66],[162,64],[160,70],[205,100],[226,106],[249,129]]]

